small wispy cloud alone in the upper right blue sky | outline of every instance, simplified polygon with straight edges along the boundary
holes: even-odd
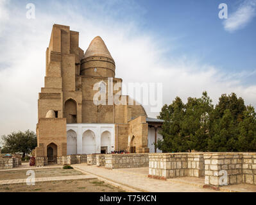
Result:
[[[223,24],[226,31],[235,31],[246,26],[256,15],[256,0],[244,1],[237,11],[228,14]]]

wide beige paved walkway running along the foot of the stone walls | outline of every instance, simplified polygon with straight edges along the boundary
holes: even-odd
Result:
[[[122,184],[140,192],[256,192],[254,184],[234,184],[222,186],[217,190],[203,188],[204,177],[178,177],[159,180],[148,178],[148,167],[118,168],[108,170],[105,167],[88,166],[86,164],[72,165],[85,174],[94,174],[108,183]]]

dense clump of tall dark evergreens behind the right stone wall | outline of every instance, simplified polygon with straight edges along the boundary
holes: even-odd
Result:
[[[176,97],[158,119],[164,120],[157,143],[163,152],[256,151],[255,110],[234,93],[221,95],[215,108],[207,92],[187,104]]]

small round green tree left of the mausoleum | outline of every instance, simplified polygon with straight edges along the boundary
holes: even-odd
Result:
[[[9,135],[3,135],[3,149],[5,151],[16,153],[22,152],[24,158],[26,154],[30,153],[32,149],[37,147],[37,135],[33,131],[27,130],[25,132],[13,132]]]

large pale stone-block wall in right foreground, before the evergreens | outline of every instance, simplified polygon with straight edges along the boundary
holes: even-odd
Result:
[[[149,154],[149,177],[205,176],[205,184],[256,184],[256,152]]]

